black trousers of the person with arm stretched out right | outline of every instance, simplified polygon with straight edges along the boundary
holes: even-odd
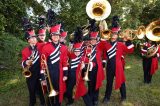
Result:
[[[105,97],[109,100],[111,97],[111,93],[112,93],[113,80],[115,76],[115,67],[109,66],[107,68],[106,75],[107,75],[107,85],[106,85]],[[120,94],[121,94],[121,99],[126,99],[125,83],[123,83],[120,87]]]

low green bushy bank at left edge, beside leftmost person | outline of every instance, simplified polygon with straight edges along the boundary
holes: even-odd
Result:
[[[25,42],[10,34],[0,36],[0,70],[19,70],[21,50],[25,45]]]

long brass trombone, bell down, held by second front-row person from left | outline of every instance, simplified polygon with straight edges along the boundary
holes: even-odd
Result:
[[[42,65],[43,70],[46,70],[46,75],[48,77],[49,86],[50,86],[49,97],[58,95],[58,92],[55,91],[54,88],[53,88],[52,81],[51,81],[51,78],[50,78],[50,73],[49,73],[49,70],[48,70],[47,62],[46,62],[46,57],[45,57],[44,54],[41,55],[41,65]]]

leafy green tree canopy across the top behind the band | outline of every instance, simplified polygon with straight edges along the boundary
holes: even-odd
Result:
[[[111,26],[112,17],[120,17],[122,29],[137,29],[139,25],[147,25],[159,18],[159,0],[108,0],[112,7],[106,19]],[[87,23],[85,0],[1,0],[0,1],[0,32],[9,32],[14,36],[22,34],[21,18],[30,17],[36,23],[37,16],[46,14],[46,9],[57,13],[58,21],[64,23],[65,30],[72,33],[79,25]],[[33,9],[34,16],[28,16],[26,10]]]

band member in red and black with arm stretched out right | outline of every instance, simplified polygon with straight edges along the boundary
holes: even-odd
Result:
[[[117,30],[117,31],[116,31]],[[125,53],[132,53],[134,45],[128,40],[126,45],[118,42],[119,28],[112,28],[110,42],[101,41],[99,47],[106,53],[107,61],[107,85],[106,92],[103,99],[104,103],[108,103],[112,93],[113,79],[115,76],[115,89],[120,89],[121,101],[126,99],[125,75],[122,63],[122,55]]]

